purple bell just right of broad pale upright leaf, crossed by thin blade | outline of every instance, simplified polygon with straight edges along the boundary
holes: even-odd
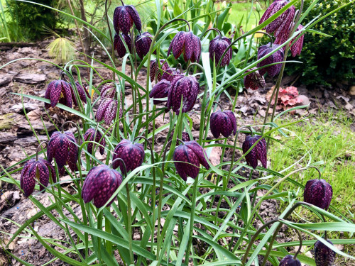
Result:
[[[218,65],[219,60],[221,60],[221,57],[228,48],[228,46],[231,44],[231,40],[226,37],[219,38],[217,36],[211,42],[209,43],[209,58],[211,60],[215,60],[216,67]],[[224,55],[220,67],[224,67],[225,65],[229,65],[229,62],[231,62],[231,56],[232,56],[233,50],[229,48],[228,52],[226,52],[226,55]],[[214,59],[215,57],[215,59]]]

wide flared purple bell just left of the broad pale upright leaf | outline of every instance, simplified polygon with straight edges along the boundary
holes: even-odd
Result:
[[[192,31],[179,31],[174,36],[168,49],[168,56],[173,50],[175,59],[183,53],[185,62],[199,62],[201,55],[201,40]]]

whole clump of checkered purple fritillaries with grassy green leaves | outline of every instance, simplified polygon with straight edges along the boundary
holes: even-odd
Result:
[[[273,1],[256,28],[228,36],[223,28],[230,25],[224,25],[223,16],[230,6],[217,15],[213,1],[181,1],[184,10],[170,3],[175,18],[167,19],[171,6],[157,0],[156,28],[151,32],[143,31],[145,25],[135,6],[121,1],[113,18],[107,19],[109,32],[111,28],[116,32],[114,36],[105,35],[67,14],[89,27],[95,38],[101,35],[100,38],[111,43],[110,52],[102,46],[110,63],[86,55],[91,64],[82,60],[67,62],[64,67],[53,64],[61,71],[60,79],[48,84],[43,97],[20,94],[43,101],[45,109],[58,106],[77,116],[81,123],[65,122],[61,129],[48,134],[48,142],[39,143],[35,155],[6,169],[2,167],[1,180],[16,184],[40,209],[18,228],[7,245],[24,231],[31,232],[55,259],[70,265],[119,265],[114,255],[117,253],[124,265],[259,265],[258,255],[263,255],[261,265],[266,262],[332,265],[336,254],[354,259],[333,245],[354,244],[355,226],[332,206],[332,185],[317,169],[322,162],[310,160],[307,165],[294,169],[301,158],[285,166],[285,170],[293,169],[288,174],[283,174],[285,170],[275,172],[267,164],[268,146],[275,141],[273,134],[286,135],[283,128],[298,122],[282,124],[283,114],[306,106],[277,115],[273,106],[271,116],[267,115],[262,125],[237,128],[233,113],[237,95],[233,100],[226,91],[235,83],[236,87],[243,84],[251,89],[263,87],[263,75],[268,73],[271,77],[278,76],[271,101],[278,99],[288,52],[293,56],[299,54],[304,33],[354,1],[305,25],[301,23],[317,0],[305,10],[302,1],[296,10],[296,2]],[[253,43],[256,33],[268,35],[270,42],[256,47]],[[240,50],[244,50],[244,55],[240,55]],[[115,65],[115,51],[123,58],[122,71]],[[182,64],[176,63],[178,59]],[[92,84],[92,77],[99,76],[94,62],[112,71],[112,79],[102,79],[98,87]],[[130,77],[125,74],[128,62]],[[229,68],[231,64],[235,64],[233,71]],[[146,87],[137,82],[144,65]],[[90,70],[87,80],[80,75],[80,70],[85,68]],[[84,82],[89,86],[85,87]],[[127,104],[125,99],[126,83],[131,87],[132,104]],[[94,94],[98,95],[97,99],[92,97]],[[222,94],[233,101],[231,111],[219,106]],[[201,108],[194,110],[197,99]],[[190,113],[193,111],[200,115],[197,140],[192,139]],[[158,116],[166,116],[168,121],[156,128]],[[75,126],[76,132],[64,131],[67,125]],[[165,130],[169,138],[165,138],[163,148],[158,151],[156,139]],[[214,139],[207,138],[209,131]],[[240,148],[241,133],[246,137]],[[234,145],[227,143],[229,138],[234,138]],[[217,165],[209,161],[214,147],[222,148]],[[95,156],[97,150],[107,154],[104,162]],[[226,150],[231,151],[231,159],[224,160]],[[243,153],[238,159],[237,150]],[[15,169],[23,163],[23,167]],[[249,169],[250,176],[241,176],[241,168]],[[310,168],[317,170],[317,176],[306,184],[293,178],[297,172]],[[21,171],[20,182],[11,175],[18,171]],[[259,178],[251,178],[253,171],[260,173]],[[62,174],[69,174],[75,184],[72,194],[60,187]],[[264,184],[266,179],[277,181],[271,187]],[[298,192],[279,191],[283,182],[297,185],[304,201],[296,200]],[[37,189],[48,192],[53,204],[43,206],[36,199]],[[266,192],[258,196],[259,190]],[[268,199],[282,201],[286,208],[278,218],[263,221],[258,210]],[[82,216],[75,214],[72,202],[80,205]],[[317,222],[288,220],[297,208],[312,211]],[[69,216],[65,215],[66,211]],[[44,215],[65,232],[68,245],[55,243],[65,252],[55,250],[52,240],[44,239],[33,229],[32,223]],[[256,228],[256,220],[263,226]],[[275,242],[283,224],[295,229],[298,241]],[[347,239],[329,240],[327,231],[342,231]],[[133,239],[133,235],[138,238]],[[312,240],[302,241],[304,235]],[[314,245],[314,258],[300,253],[302,245]],[[290,254],[287,247],[295,247],[297,252]],[[9,255],[29,265],[20,257]]]

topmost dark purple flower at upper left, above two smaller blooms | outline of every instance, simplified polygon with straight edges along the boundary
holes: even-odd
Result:
[[[129,34],[129,30],[134,25],[138,31],[142,30],[141,18],[132,5],[117,6],[114,10],[114,30],[116,33],[120,31],[124,34]]]

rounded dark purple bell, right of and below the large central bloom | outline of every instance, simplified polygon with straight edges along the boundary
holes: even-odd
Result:
[[[236,117],[232,111],[217,111],[211,114],[211,132],[214,138],[224,135],[228,138],[231,133],[236,135]]]

